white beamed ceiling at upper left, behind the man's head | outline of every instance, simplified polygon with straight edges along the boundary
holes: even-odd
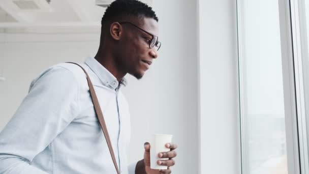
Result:
[[[17,2],[18,4],[21,4],[20,2],[35,3],[39,8],[21,9],[16,5]],[[105,8],[96,5],[95,0],[50,0],[49,4],[47,0],[1,0],[0,8],[2,18],[10,15],[20,23],[94,22],[99,21],[105,11]],[[12,21],[7,19],[1,22]]]

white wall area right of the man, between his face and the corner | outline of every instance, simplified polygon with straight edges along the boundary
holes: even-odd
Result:
[[[162,42],[159,58],[142,80],[130,78],[125,89],[135,107],[133,123],[144,123],[132,128],[139,132],[132,134],[138,142],[132,155],[142,157],[144,140],[151,133],[173,134],[179,144],[173,173],[198,173],[196,1],[156,0],[153,7]],[[134,89],[138,93],[129,92]]]

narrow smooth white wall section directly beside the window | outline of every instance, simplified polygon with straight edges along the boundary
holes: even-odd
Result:
[[[239,174],[236,1],[198,3],[199,173]]]

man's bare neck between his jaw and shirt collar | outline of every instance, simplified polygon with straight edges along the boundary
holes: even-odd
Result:
[[[111,52],[98,51],[95,59],[106,68],[118,81],[120,81],[125,75],[126,72],[123,72],[123,69],[116,63],[115,57],[111,54]]]

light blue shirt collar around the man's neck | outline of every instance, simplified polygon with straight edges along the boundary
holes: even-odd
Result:
[[[87,57],[87,59],[85,60],[85,64],[99,77],[99,79],[105,86],[116,90],[119,83],[120,85],[127,85],[127,80],[125,78],[122,78],[121,81],[118,82],[117,78],[112,73],[110,73],[103,65],[101,65],[94,57]]]

